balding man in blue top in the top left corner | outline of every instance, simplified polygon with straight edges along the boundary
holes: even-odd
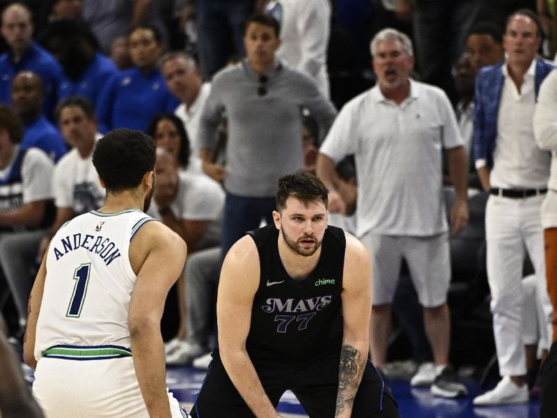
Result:
[[[9,51],[0,56],[0,102],[10,103],[10,87],[13,77],[30,70],[42,80],[44,102],[42,110],[47,118],[53,117],[58,86],[63,71],[51,54],[33,41],[31,10],[22,3],[13,3],[3,10],[1,32]]]

